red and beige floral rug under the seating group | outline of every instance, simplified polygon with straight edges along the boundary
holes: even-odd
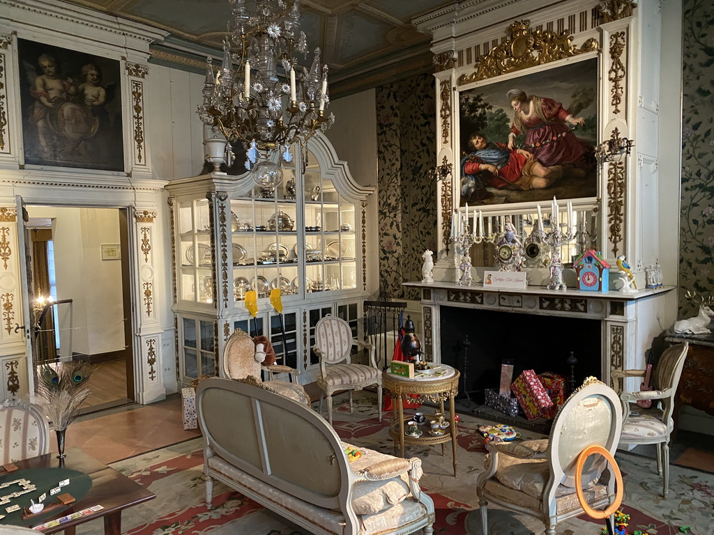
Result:
[[[373,396],[372,396],[373,397]],[[429,413],[430,409],[423,409]],[[433,412],[433,409],[431,410]],[[392,453],[388,436],[391,412],[379,422],[373,399],[368,394],[356,397],[355,412],[338,405],[334,427],[338,435],[358,446]],[[478,427],[486,424],[475,417],[462,416],[458,430],[458,477],[453,477],[451,444],[446,454],[441,447],[409,447],[408,456],[423,459],[422,487],[436,504],[436,534],[483,535],[476,497],[476,477],[483,469],[485,449]],[[540,438],[523,432],[524,439]],[[116,462],[112,466],[156,493],[156,499],[126,509],[122,531],[126,535],[212,534],[308,535],[303,529],[263,509],[238,492],[221,484],[214,486],[213,505],[204,502],[202,439],[150,452]],[[286,455],[299,457],[299,446]],[[660,496],[661,479],[653,460],[630,454],[618,454],[625,479],[623,510],[630,514],[628,533],[640,530],[650,535],[680,534],[681,526],[691,526],[689,533],[711,534],[714,526],[714,475],[693,470],[670,468],[670,498]],[[528,516],[496,508],[489,509],[492,534],[542,534],[543,524]],[[101,534],[101,523],[78,529],[79,534]],[[709,526],[709,527],[707,527]],[[603,524],[579,516],[558,524],[561,535],[599,535]]]

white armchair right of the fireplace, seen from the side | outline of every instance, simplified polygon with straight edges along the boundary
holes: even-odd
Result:
[[[669,442],[674,429],[675,394],[687,360],[688,342],[668,347],[653,369],[654,390],[620,392],[625,421],[620,444],[657,444],[657,473],[662,476],[662,494],[669,494]],[[645,370],[614,370],[613,379],[645,377]],[[644,409],[638,401],[648,400]]]

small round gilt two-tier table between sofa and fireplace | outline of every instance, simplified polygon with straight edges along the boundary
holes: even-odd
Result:
[[[389,436],[392,437],[394,441],[394,454],[397,454],[397,441],[399,441],[399,451],[401,457],[404,457],[404,444],[418,444],[418,445],[428,445],[428,444],[441,444],[441,454],[444,454],[444,443],[451,441],[451,447],[453,450],[453,477],[456,477],[456,418],[454,413],[454,399],[456,399],[456,394],[458,394],[458,379],[461,374],[458,370],[448,365],[441,365],[443,370],[446,370],[446,374],[441,377],[437,376],[423,376],[414,377],[409,379],[408,377],[401,377],[400,375],[395,375],[389,370],[384,370],[382,372],[382,387],[385,392],[393,399],[392,409],[394,414],[394,421],[391,426],[389,426]],[[404,422],[408,422],[412,417],[404,417],[403,399],[413,400],[410,394],[416,394],[418,400],[421,402],[430,401],[438,402],[440,407],[440,412],[444,412],[444,402],[448,399],[449,402],[449,427],[450,432],[443,434],[441,436],[433,436],[429,434],[429,420],[433,419],[433,415],[426,415],[426,423],[419,426],[422,431],[421,437],[409,437],[404,434]]]

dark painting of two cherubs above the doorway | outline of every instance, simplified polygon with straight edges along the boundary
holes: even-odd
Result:
[[[18,39],[25,163],[124,170],[119,61]]]

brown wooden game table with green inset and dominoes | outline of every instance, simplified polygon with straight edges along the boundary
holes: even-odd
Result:
[[[89,455],[82,452],[81,449],[71,448],[66,451],[66,454],[67,457],[62,459],[62,464],[60,464],[60,459],[57,459],[54,453],[15,462],[19,470],[63,467],[82,472],[91,478],[91,487],[86,491],[84,496],[75,501],[74,504],[71,504],[67,509],[61,509],[54,515],[41,516],[36,524],[31,524],[31,526],[44,524],[46,521],[60,518],[81,511],[82,509],[88,509],[95,505],[101,505],[104,509],[86,516],[81,516],[78,519],[71,519],[57,526],[52,526],[51,528],[41,531],[41,533],[50,534],[56,533],[57,531],[64,531],[66,535],[74,535],[75,526],[84,524],[90,520],[103,518],[104,533],[106,535],[120,535],[121,511],[127,507],[156,498],[156,494],[144,488],[144,486],[132,481],[124,474],[120,474],[115,469],[106,466],[106,464],[99,462],[94,459],[94,457],[89,457]],[[19,474],[19,472],[14,473]],[[21,474],[19,475],[21,476]],[[49,489],[37,490],[39,491],[37,493],[38,495],[41,494],[41,491],[47,491],[47,501],[49,501]],[[27,505],[29,505],[29,503]],[[0,521],[0,524],[1,523],[2,521]],[[38,533],[40,532],[38,531]]]

